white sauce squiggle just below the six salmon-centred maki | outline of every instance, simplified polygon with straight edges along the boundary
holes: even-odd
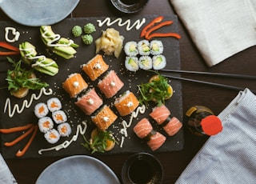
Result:
[[[38,154],[42,154],[42,152],[44,152],[44,151],[62,150],[64,148],[67,148],[68,146],[70,146],[70,144],[72,142],[75,142],[75,141],[78,140],[78,134],[86,134],[87,124],[86,124],[86,122],[82,122],[82,124],[84,125],[84,128],[82,129],[82,125],[78,125],[76,134],[73,135],[73,137],[70,139],[70,141],[65,141],[62,144],[59,144],[59,145],[54,146],[54,147],[44,148],[44,149],[38,150]]]

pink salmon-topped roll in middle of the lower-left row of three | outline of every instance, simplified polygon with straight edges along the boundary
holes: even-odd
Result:
[[[74,102],[86,115],[94,113],[95,110],[98,110],[102,106],[102,98],[98,96],[96,91],[90,89],[86,92],[81,98],[78,98],[77,102]]]

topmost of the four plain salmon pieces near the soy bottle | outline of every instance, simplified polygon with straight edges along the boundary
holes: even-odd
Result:
[[[154,121],[161,125],[170,116],[170,110],[165,105],[156,106],[150,113],[150,117],[154,118]]]

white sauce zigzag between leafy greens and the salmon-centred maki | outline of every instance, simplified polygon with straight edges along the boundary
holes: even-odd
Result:
[[[6,104],[3,112],[6,113],[6,110],[8,109],[8,114],[10,118],[14,116],[16,111],[18,114],[21,114],[25,108],[29,108],[31,106],[34,100],[38,100],[39,98],[41,98],[42,94],[45,94],[45,95],[53,94],[53,90],[49,89],[49,91],[47,92],[46,88],[43,87],[40,90],[40,93],[38,94],[38,96],[36,96],[36,94],[32,94],[30,97],[30,102],[28,102],[27,100],[24,100],[22,103],[22,107],[19,107],[18,104],[15,104],[13,107],[13,110],[10,109],[11,108],[10,98],[6,98]]]

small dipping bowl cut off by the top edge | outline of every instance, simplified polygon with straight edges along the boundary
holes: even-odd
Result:
[[[119,11],[133,14],[142,10],[149,0],[111,0],[111,2]]]

